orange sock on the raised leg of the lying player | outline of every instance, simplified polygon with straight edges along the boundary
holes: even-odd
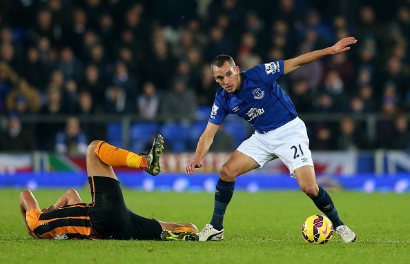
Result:
[[[148,166],[145,156],[117,148],[104,141],[97,143],[95,154],[102,162],[113,167],[135,167],[144,170]]]

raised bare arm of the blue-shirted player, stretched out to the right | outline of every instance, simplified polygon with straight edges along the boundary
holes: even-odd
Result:
[[[293,72],[293,70],[296,70],[300,66],[311,63],[325,56],[338,54],[345,52],[346,50],[350,50],[349,45],[352,45],[356,42],[358,42],[358,40],[354,37],[346,37],[344,39],[341,39],[331,47],[324,48],[322,50],[315,50],[313,52],[308,52],[293,59],[287,59],[286,61],[284,61],[284,74]]]

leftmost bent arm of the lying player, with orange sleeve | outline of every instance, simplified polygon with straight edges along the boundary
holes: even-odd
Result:
[[[32,232],[32,228],[37,221],[39,214],[41,214],[41,210],[39,207],[39,203],[35,199],[35,196],[30,192],[30,190],[23,190],[20,193],[20,212],[24,219],[24,225],[26,225],[26,230],[30,236],[33,238],[37,238],[37,236]]]

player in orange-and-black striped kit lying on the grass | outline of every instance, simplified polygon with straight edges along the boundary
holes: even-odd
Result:
[[[20,210],[28,234],[46,239],[124,239],[196,241],[197,227],[191,223],[167,223],[146,219],[126,207],[113,167],[126,166],[157,175],[164,139],[155,137],[150,152],[140,156],[104,141],[92,141],[87,149],[87,174],[92,203],[82,203],[70,189],[47,209],[40,210],[35,196],[25,190]]]

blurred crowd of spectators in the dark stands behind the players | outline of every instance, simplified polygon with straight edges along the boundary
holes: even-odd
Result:
[[[346,115],[308,124],[313,150],[410,148],[409,0],[2,0],[0,150],[82,153],[106,137],[77,118],[93,114],[188,124],[213,104],[218,54],[246,70],[348,36],[349,52],[280,79],[300,114]],[[393,121],[371,140],[351,117],[366,113]],[[22,126],[25,114],[72,117]]]

